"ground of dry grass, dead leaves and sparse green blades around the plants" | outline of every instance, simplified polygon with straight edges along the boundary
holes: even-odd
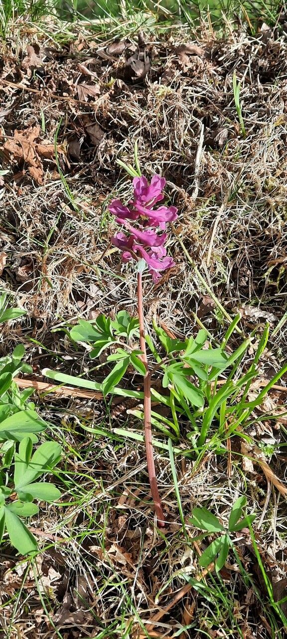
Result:
[[[11,304],[27,314],[3,325],[0,348],[6,355],[17,343],[26,346],[31,380],[47,381],[45,367],[98,380],[67,328],[99,312],[136,312],[135,275],[110,244],[115,221],[107,208],[112,197],[128,199],[131,179],[117,161],[134,165],[136,148],[142,173],[165,176],[168,200],[179,209],[168,246],[175,266],[156,286],[144,278],[147,330],[156,316],[175,335],[196,335],[203,325],[220,341],[227,316],[240,312],[232,348],[255,336],[242,371],[270,324],[251,391],[283,366],[287,40],[281,18],[255,32],[248,22],[228,23],[224,34],[208,22],[198,33],[149,20],[142,28],[126,22],[102,31],[48,17],[11,24],[0,65],[0,281]],[[131,404],[87,393],[35,395],[63,445],[55,472],[63,497],[60,507],[43,504],[39,519],[31,520],[41,550],[32,564],[8,542],[1,547],[4,636],[286,636],[284,602],[274,603],[286,596],[286,418],[262,417],[282,412],[285,383],[279,381],[248,424],[264,454],[261,465],[247,464],[237,436],[230,467],[228,450],[207,447],[200,461],[186,455],[190,444],[182,435],[175,473],[184,531],[170,457],[161,448],[156,463],[166,527],[155,525],[144,445],[129,436],[142,432],[127,413]],[[129,384],[134,380],[127,378]],[[126,436],[115,433],[119,427]],[[257,514],[256,550],[244,529],[235,535],[237,557],[231,552],[219,574],[202,574],[198,556],[207,544],[194,541],[193,508],[205,505],[225,524],[243,493],[247,511]]]

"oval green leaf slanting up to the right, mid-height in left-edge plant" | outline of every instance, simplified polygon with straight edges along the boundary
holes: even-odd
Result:
[[[26,470],[22,472],[17,483],[15,482],[15,491],[18,493],[27,484],[34,482],[34,480],[40,477],[40,475],[53,468],[59,459],[61,459],[61,446],[59,443],[42,443],[34,452]],[[24,463],[24,460],[19,456],[19,453],[15,454],[15,463]]]

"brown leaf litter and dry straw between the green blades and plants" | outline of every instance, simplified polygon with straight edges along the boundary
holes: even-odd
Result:
[[[119,258],[114,253],[103,256],[103,251],[114,231],[107,215],[107,198],[111,188],[122,193],[126,184],[116,160],[133,164],[135,141],[140,166],[147,167],[148,172],[165,174],[170,200],[180,210],[180,231],[175,229],[171,245],[177,268],[158,289],[146,291],[147,307],[182,335],[190,334],[194,322],[191,311],[198,311],[201,321],[220,337],[214,302],[200,290],[177,245],[176,233],[180,232],[222,304],[230,311],[242,311],[246,331],[266,320],[276,327],[287,297],[286,264],[281,261],[287,249],[285,36],[277,37],[276,31],[264,30],[250,36],[242,30],[220,40],[210,38],[203,29],[201,39],[192,42],[188,33],[175,30],[172,35],[155,36],[147,29],[144,34],[103,42],[85,31],[84,26],[75,24],[73,38],[61,45],[55,44],[52,22],[50,26],[52,37],[38,33],[38,44],[31,41],[29,31],[22,29],[23,53],[11,42],[8,54],[4,47],[1,54],[0,143],[3,169],[8,170],[0,187],[5,211],[5,219],[1,219],[1,283],[17,296],[29,318],[3,327],[1,348],[18,339],[26,343],[27,358],[39,379],[45,361],[48,365],[55,361],[55,351],[61,353],[59,369],[78,373],[78,353],[75,355],[59,332],[50,332],[58,327],[59,318],[71,321],[79,314],[112,314],[121,307],[122,299],[133,311],[133,278],[120,270],[117,275],[123,279],[115,278]],[[233,100],[234,70],[242,82],[246,139],[240,135]],[[31,327],[38,344],[31,345],[29,341]],[[286,343],[283,327],[272,341],[274,350],[265,354],[262,378],[268,380],[272,376]],[[85,354],[80,354],[81,372],[87,371]],[[280,410],[281,395],[275,395],[273,401],[274,405],[265,406],[261,414],[264,410]],[[171,637],[175,632],[178,635],[182,619],[195,619],[196,624],[200,620],[202,625],[195,636],[207,633],[210,617],[199,591],[192,590],[193,617],[183,614],[180,597],[174,605],[169,603],[174,592],[184,587],[180,576],[184,572],[182,557],[186,575],[196,574],[197,559],[192,544],[185,554],[185,543],[179,539],[174,543],[179,518],[168,460],[165,456],[158,460],[160,489],[170,514],[165,544],[152,530],[141,444],[135,446],[126,440],[115,450],[110,439],[96,438],[84,430],[87,424],[97,425],[106,416],[99,400],[95,404],[91,397],[85,398],[85,416],[69,397],[49,396],[48,403],[43,399],[43,406],[52,423],[66,428],[69,450],[80,451],[82,459],[87,454],[88,461],[81,464],[69,452],[67,468],[71,476],[76,473],[78,484],[87,491],[88,505],[83,511],[71,504],[63,511],[61,524],[52,507],[45,514],[40,527],[49,534],[52,531],[57,538],[61,525],[61,538],[67,543],[61,547],[59,542],[54,556],[52,550],[45,551],[47,566],[38,566],[42,585],[39,580],[37,585],[34,572],[29,571],[24,596],[29,592],[35,627],[29,626],[29,606],[24,610],[24,597],[21,599],[20,594],[23,608],[17,619],[19,632],[29,639],[36,639],[41,633],[54,637],[55,626],[65,639],[84,639],[97,636],[114,624],[114,636],[122,636],[119,602],[124,579],[134,609],[146,622],[147,630],[159,606],[161,610],[166,608],[165,636]],[[256,416],[260,417],[259,413]],[[115,419],[124,427],[126,407],[119,407]],[[266,430],[260,424],[254,436],[260,441],[271,431],[276,445],[279,434],[274,420],[267,426]],[[264,445],[263,440],[261,443]],[[270,456],[262,454],[261,449],[258,452],[247,447],[242,447],[241,452],[243,468],[247,459],[253,459],[252,468],[244,468],[252,509],[262,511],[268,483],[283,497],[276,506],[283,559],[277,560],[272,546],[269,511],[265,513],[266,525],[260,530],[261,558],[267,566],[267,549],[272,553],[274,566],[277,565],[273,588],[276,592],[276,583],[279,584],[276,596],[280,598],[286,566],[286,543],[281,535],[286,488],[283,468],[280,463],[276,466],[280,455],[277,450]],[[211,511],[217,512],[219,507],[223,518],[228,516],[235,493],[241,494],[245,489],[241,470],[232,463],[233,474],[227,479],[223,460],[213,453],[197,470],[190,460],[182,462],[178,471],[186,517],[191,505],[203,501]],[[256,466],[260,468],[257,474]],[[122,499],[124,487],[128,498]],[[107,517],[103,509],[106,502]],[[101,546],[101,533],[94,534],[94,527],[105,530]],[[83,540],[81,547],[75,541],[69,542],[72,533]],[[196,531],[189,533],[195,536]],[[253,571],[247,532],[240,559],[247,572]],[[15,577],[16,558],[12,558],[10,569],[13,577],[6,589],[7,576],[3,577],[1,571],[6,626],[13,616],[10,597],[18,592],[24,574]],[[238,567],[228,570],[228,580],[241,606],[240,630],[251,636],[256,627],[258,637],[269,637],[268,623],[258,623],[258,619],[265,618],[265,612],[261,608],[258,612],[257,603],[251,610]],[[258,574],[252,574],[256,587],[263,592]],[[48,617],[38,590],[47,598]],[[224,633],[226,628],[235,633],[226,626],[226,619],[221,622]],[[160,634],[163,627],[155,626],[151,633]],[[211,631],[217,633],[214,636],[223,632],[221,628]]]

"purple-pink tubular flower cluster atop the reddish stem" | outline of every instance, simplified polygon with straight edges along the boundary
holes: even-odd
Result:
[[[160,231],[165,230],[166,222],[177,219],[177,208],[162,204],[154,208],[163,200],[165,185],[165,178],[160,175],[154,175],[150,184],[147,178],[134,178],[133,199],[128,205],[114,199],[108,207],[117,223],[127,231],[116,233],[112,238],[114,246],[122,251],[122,260],[144,259],[154,282],[158,281],[161,271],[173,266],[173,259],[166,256],[166,233]]]

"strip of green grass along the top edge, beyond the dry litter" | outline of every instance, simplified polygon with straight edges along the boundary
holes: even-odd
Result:
[[[17,16],[38,22],[47,15],[54,15],[68,22],[84,20],[91,25],[94,20],[98,20],[99,24],[102,20],[119,24],[119,20],[125,22],[130,19],[148,24],[150,17],[162,26],[172,26],[174,20],[200,26],[200,22],[206,23],[208,18],[214,29],[225,28],[226,20],[232,23],[240,19],[247,22],[251,31],[256,33],[261,22],[275,26],[282,12],[283,5],[279,0],[266,3],[263,0],[255,3],[249,0],[240,3],[235,0],[210,0],[208,7],[204,0],[163,0],[161,3],[152,0],[67,0],[65,3],[59,0],[0,0],[0,25],[1,33],[5,36],[9,24]]]

